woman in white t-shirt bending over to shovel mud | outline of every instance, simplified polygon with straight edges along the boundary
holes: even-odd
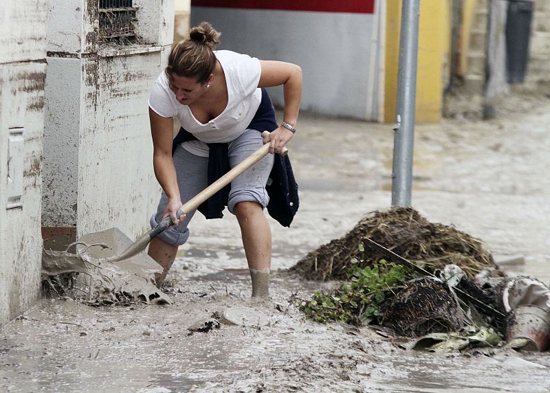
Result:
[[[164,268],[157,278],[159,286],[179,245],[189,237],[187,225],[195,212],[181,217],[176,212],[208,186],[211,148],[225,146],[222,151],[233,167],[263,143],[270,144],[270,153],[281,153],[296,132],[302,93],[300,67],[230,51],[214,52],[219,36],[209,23],[193,27],[189,38],[172,48],[168,66],[157,78],[149,98],[153,165],[163,189],[151,225],[166,216],[175,223],[149,245],[149,256]],[[274,111],[262,88],[278,85],[283,85],[285,98],[283,123],[275,124],[264,140],[258,131],[266,128],[259,128],[266,118],[274,121]],[[173,117],[177,117],[186,135],[186,142],[174,146],[174,151]],[[253,297],[269,295],[272,238],[263,209],[269,201],[265,185],[273,162],[273,155],[264,157],[232,181],[227,195],[228,209],[241,227]]]

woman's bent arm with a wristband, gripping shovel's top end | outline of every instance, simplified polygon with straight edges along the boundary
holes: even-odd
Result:
[[[258,87],[273,87],[283,85],[285,109],[283,110],[283,122],[296,127],[300,100],[302,98],[302,69],[292,63],[282,61],[260,60],[262,73]],[[280,153],[281,149],[292,138],[292,131],[279,126],[270,134],[270,153]],[[267,142],[267,140],[265,142]]]

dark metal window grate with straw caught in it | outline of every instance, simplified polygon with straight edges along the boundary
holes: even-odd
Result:
[[[99,38],[100,42],[135,42],[133,23],[137,20],[132,0],[99,1]]]

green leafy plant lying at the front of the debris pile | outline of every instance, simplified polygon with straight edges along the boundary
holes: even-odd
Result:
[[[364,251],[360,245],[360,251]],[[354,258],[355,259],[355,258]],[[357,265],[359,260],[351,260]],[[346,282],[336,291],[316,291],[309,300],[299,299],[300,311],[316,322],[341,321],[349,324],[369,324],[380,315],[386,295],[410,279],[413,272],[403,265],[380,260],[372,267],[349,269]]]

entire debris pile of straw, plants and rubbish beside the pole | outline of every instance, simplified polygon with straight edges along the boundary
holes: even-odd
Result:
[[[550,289],[533,278],[505,276],[481,240],[429,223],[410,207],[369,214],[291,271],[344,280],[334,291],[293,298],[317,322],[421,337],[415,349],[550,347]]]

